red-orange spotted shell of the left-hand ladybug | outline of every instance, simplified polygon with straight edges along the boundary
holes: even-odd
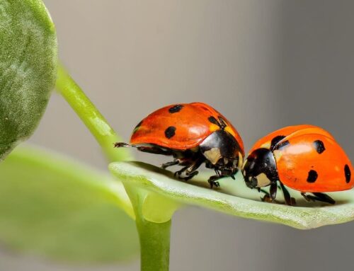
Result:
[[[210,122],[210,117],[216,120],[222,118],[227,125],[224,130],[232,134],[244,153],[244,144],[236,129],[223,115],[205,103],[168,105],[154,111],[135,127],[130,143],[156,144],[176,150],[192,149],[212,132],[220,129],[218,125]],[[167,137],[166,132],[172,132],[173,136]]]

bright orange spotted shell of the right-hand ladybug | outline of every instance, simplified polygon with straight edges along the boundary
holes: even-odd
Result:
[[[353,188],[353,166],[329,132],[312,125],[285,127],[263,137],[252,151],[270,148],[271,140],[277,136],[285,136],[273,151],[278,175],[284,185],[301,192]]]

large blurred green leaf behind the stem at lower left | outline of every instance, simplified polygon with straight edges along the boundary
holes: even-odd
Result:
[[[125,212],[122,211],[125,210]],[[0,163],[0,241],[56,260],[107,263],[139,251],[122,183],[33,147]]]

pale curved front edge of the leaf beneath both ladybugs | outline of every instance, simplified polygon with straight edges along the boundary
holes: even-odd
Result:
[[[354,192],[340,192],[341,202],[333,206],[291,207],[227,195],[173,178],[170,171],[142,162],[110,163],[110,171],[123,183],[137,185],[180,204],[193,204],[237,217],[257,219],[292,226],[296,229],[314,229],[320,226],[341,224],[354,220]],[[236,175],[236,182],[243,183]],[[229,180],[232,182],[232,180]],[[206,181],[204,180],[206,183]],[[200,185],[200,183],[197,183]],[[241,185],[239,185],[241,186]],[[239,188],[238,186],[238,188]],[[251,190],[250,195],[251,195]],[[252,193],[254,191],[252,190]],[[159,212],[159,210],[150,210]]]

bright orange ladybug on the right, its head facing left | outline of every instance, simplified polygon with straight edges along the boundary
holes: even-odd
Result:
[[[285,186],[301,192],[307,201],[334,204],[324,192],[353,188],[352,171],[348,156],[333,136],[313,125],[284,127],[263,137],[242,168],[249,188],[265,192],[261,188],[270,185],[263,201],[275,200],[279,182],[288,205],[296,202]]]

